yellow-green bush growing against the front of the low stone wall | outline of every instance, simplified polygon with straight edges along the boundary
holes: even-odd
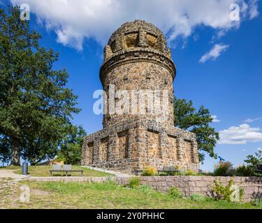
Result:
[[[214,186],[212,187],[212,192],[214,192],[214,199],[231,201],[231,194],[235,191],[231,187],[234,184],[233,178],[228,182],[228,185],[222,185],[221,181],[214,180]]]

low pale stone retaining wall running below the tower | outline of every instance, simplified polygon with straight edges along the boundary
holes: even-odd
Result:
[[[119,185],[127,185],[129,177],[30,177],[27,180],[35,181],[53,181],[53,182],[89,182],[103,183],[108,180],[115,180]],[[170,187],[177,187],[185,197],[191,194],[203,194],[212,196],[210,185],[214,184],[214,179],[220,180],[226,185],[231,177],[215,176],[141,176],[140,182],[144,185],[150,185],[154,189],[167,192]],[[235,185],[242,187],[245,191],[243,200],[252,201],[262,199],[262,177],[234,177]]]

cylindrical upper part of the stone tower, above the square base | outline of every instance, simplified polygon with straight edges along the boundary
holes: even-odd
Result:
[[[127,22],[115,31],[105,45],[104,62],[100,70],[100,79],[104,91],[108,96],[107,114],[103,118],[104,128],[115,125],[121,121],[147,118],[156,120],[163,116],[163,106],[166,106],[166,118],[163,122],[173,125],[173,79],[175,78],[175,65],[171,59],[170,49],[166,48],[166,38],[156,26],[142,20]],[[111,86],[111,87],[110,87]],[[123,109],[122,114],[117,113],[115,104],[122,100],[121,95],[113,95],[119,90],[129,93],[129,107]],[[139,90],[145,93],[145,107],[139,107]],[[148,103],[155,102],[157,91],[161,102],[161,113],[157,113],[154,106]],[[163,90],[168,96],[163,99]],[[124,95],[122,95],[124,97]],[[114,97],[114,98],[112,98]],[[150,97],[152,101],[150,101]],[[138,109],[132,109],[132,100],[138,100]],[[139,104],[139,105],[138,105]],[[150,104],[151,105],[151,104]],[[141,111],[145,109],[145,111]]]

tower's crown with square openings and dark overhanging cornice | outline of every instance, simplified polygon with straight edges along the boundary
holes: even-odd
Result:
[[[106,70],[120,63],[150,61],[166,66],[175,78],[175,65],[170,49],[166,47],[166,37],[160,29],[149,22],[135,20],[122,24],[108,40],[103,54],[100,77]]]

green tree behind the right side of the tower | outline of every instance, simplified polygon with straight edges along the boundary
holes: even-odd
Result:
[[[217,158],[214,146],[219,140],[219,133],[210,127],[210,123],[212,123],[212,117],[208,109],[201,106],[197,111],[191,100],[187,102],[184,99],[174,98],[174,125],[196,134],[199,161],[202,163],[205,154],[201,151],[207,152],[210,157]]]

